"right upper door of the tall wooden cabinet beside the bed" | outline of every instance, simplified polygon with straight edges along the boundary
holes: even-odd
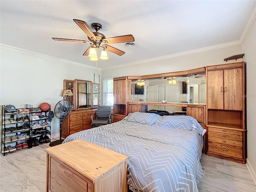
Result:
[[[224,70],[224,109],[243,110],[242,68]]]

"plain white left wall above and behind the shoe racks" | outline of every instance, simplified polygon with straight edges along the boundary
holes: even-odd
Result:
[[[0,104],[23,108],[25,104],[38,107],[42,102],[51,104],[63,99],[63,80],[90,80],[98,83],[101,73],[96,68],[86,68],[39,54],[29,54],[1,47]],[[2,123],[2,122],[1,122]],[[58,118],[52,120],[52,134],[58,132]]]

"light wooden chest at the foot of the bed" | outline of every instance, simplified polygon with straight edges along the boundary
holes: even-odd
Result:
[[[78,139],[46,150],[46,192],[127,192],[128,156]]]

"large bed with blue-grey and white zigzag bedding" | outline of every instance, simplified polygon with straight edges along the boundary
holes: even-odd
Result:
[[[74,133],[64,142],[83,139],[127,155],[133,192],[198,192],[204,132],[190,116],[134,112],[120,122]]]

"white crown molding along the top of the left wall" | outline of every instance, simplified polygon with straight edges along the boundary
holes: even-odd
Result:
[[[55,60],[55,61],[59,61],[59,62],[64,62],[64,63],[68,63],[68,64],[72,64],[72,65],[77,65],[77,66],[96,69],[96,70],[101,71],[101,68],[97,68],[97,67],[93,67],[93,66],[89,66],[89,65],[85,65],[85,64],[81,64],[81,63],[77,63],[77,62],[73,62],[73,61],[69,61],[69,60],[65,60],[65,59],[61,59],[61,58],[57,58],[57,57],[52,57],[52,56],[48,56],[48,55],[44,55],[44,54],[40,54],[40,53],[28,51],[28,50],[24,50],[24,49],[9,46],[9,45],[6,45],[6,44],[1,44],[0,43],[0,48],[4,48],[4,49],[16,51],[16,52],[21,52],[21,53],[25,53],[25,54],[29,54],[29,55],[33,55],[33,56],[38,56],[38,57],[42,57],[42,58],[46,58],[46,59],[50,59],[50,60]]]

